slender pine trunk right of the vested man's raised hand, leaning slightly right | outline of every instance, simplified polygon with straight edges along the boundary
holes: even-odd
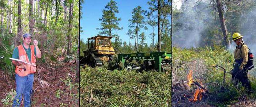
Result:
[[[70,47],[71,47],[71,20],[72,20],[72,3],[69,5],[69,24],[68,24],[68,55],[70,54]]]

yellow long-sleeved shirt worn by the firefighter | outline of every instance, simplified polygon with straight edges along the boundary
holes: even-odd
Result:
[[[249,50],[247,45],[244,44],[244,45],[236,46],[236,49],[234,51],[235,60],[243,58],[241,65],[244,66],[245,64],[247,64],[247,61],[248,61],[248,52]]]

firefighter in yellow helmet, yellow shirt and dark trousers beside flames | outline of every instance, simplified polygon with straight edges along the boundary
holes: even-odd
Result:
[[[234,64],[232,71],[232,80],[234,85],[237,86],[238,82],[242,83],[242,86],[245,87],[247,93],[252,93],[252,87],[250,80],[248,79],[248,69],[244,66],[248,62],[248,47],[245,45],[242,35],[240,33],[234,33],[232,40],[236,43],[236,49],[234,50]]]

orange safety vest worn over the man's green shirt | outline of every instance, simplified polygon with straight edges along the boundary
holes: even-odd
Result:
[[[20,65],[16,66],[15,73],[18,74],[21,77],[27,76],[28,74],[35,73],[37,70],[37,67],[35,65],[36,57],[35,57],[35,51],[34,51],[34,46],[30,45],[30,50],[31,50],[31,62],[29,62],[29,57],[27,56],[27,53],[22,45],[18,46],[19,50],[19,60],[25,61],[30,63],[26,65]]]

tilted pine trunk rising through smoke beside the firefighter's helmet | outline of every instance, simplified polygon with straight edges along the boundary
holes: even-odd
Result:
[[[230,47],[230,41],[229,41],[229,38],[227,38],[227,27],[226,27],[224,15],[223,15],[222,5],[220,0],[216,0],[216,3],[217,3],[218,12],[219,12],[219,20],[221,22],[222,33],[224,37],[224,43],[225,43],[224,45],[228,49]]]

